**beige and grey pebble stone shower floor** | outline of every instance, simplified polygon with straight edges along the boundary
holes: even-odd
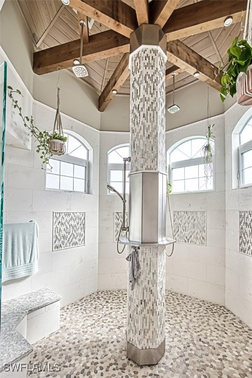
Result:
[[[223,306],[170,291],[166,351],[156,366],[126,358],[126,290],[98,291],[64,307],[60,329],[33,348],[31,366],[60,363],[61,371],[30,377],[252,377],[252,330]]]

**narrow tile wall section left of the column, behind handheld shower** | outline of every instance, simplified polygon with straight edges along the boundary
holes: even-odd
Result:
[[[129,133],[100,132],[99,167],[99,261],[98,289],[126,289],[128,247],[117,253],[115,242],[115,212],[123,210],[118,195],[107,191],[107,153],[115,146],[129,142]],[[128,196],[126,196],[126,210]],[[120,251],[123,248],[119,245]]]

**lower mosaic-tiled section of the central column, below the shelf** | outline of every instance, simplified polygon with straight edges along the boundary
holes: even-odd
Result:
[[[127,289],[127,341],[139,349],[157,348],[165,329],[165,247],[141,247],[134,290]]]

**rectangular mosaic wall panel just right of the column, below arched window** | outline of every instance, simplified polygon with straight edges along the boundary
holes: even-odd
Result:
[[[206,245],[206,212],[174,211],[174,239],[178,243]]]

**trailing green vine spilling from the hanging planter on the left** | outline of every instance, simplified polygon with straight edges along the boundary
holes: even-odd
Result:
[[[10,97],[14,109],[18,110],[19,116],[23,120],[23,124],[26,128],[28,128],[34,137],[34,139],[37,141],[37,146],[36,146],[36,152],[41,154],[40,158],[42,159],[42,169],[44,169],[44,164],[49,165],[49,170],[52,170],[52,166],[49,163],[49,159],[53,156],[53,154],[49,151],[49,142],[51,139],[58,139],[62,140],[63,142],[67,141],[66,136],[62,136],[58,132],[50,133],[48,131],[41,131],[37,126],[34,125],[34,120],[31,117],[24,116],[22,113],[22,108],[18,104],[18,100],[14,98],[14,94],[18,94],[22,96],[22,93],[19,89],[13,90],[11,86],[8,86],[8,96]]]

